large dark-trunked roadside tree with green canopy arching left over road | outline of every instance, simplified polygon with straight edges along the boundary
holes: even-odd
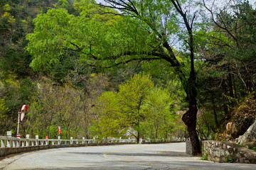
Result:
[[[63,8],[52,8],[35,19],[35,31],[27,36],[27,50],[33,55],[33,69],[50,69],[67,51],[78,52],[88,65],[113,67],[133,61],[164,60],[173,67],[187,95],[188,111],[183,121],[193,145],[193,154],[201,152],[196,133],[196,70],[193,23],[196,14],[183,8],[183,1],[107,1],[110,6],[97,8],[88,1],[78,2],[80,15],[73,16]],[[192,6],[193,4],[191,4]],[[117,8],[121,13],[110,10]],[[90,11],[90,12],[88,12]],[[119,15],[132,17],[119,18]],[[98,16],[105,18],[102,21]],[[101,17],[100,17],[101,18]],[[183,24],[179,24],[183,23]],[[180,28],[180,29],[179,29]],[[186,30],[183,32],[182,30]],[[186,44],[189,70],[171,45],[171,38]]]

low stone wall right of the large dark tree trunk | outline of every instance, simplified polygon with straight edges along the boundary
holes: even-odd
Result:
[[[203,154],[212,162],[256,164],[256,152],[233,142],[203,141]]]

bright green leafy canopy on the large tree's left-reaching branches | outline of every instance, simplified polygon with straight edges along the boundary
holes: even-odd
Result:
[[[29,41],[26,50],[33,56],[30,66],[34,70],[48,71],[68,52],[77,53],[80,62],[109,67],[143,57],[128,56],[126,52],[146,54],[159,46],[156,34],[151,33],[151,28],[145,23],[148,21],[104,14],[104,11],[117,12],[100,8],[87,0],[75,2],[73,8],[76,14],[68,13],[60,6],[50,8],[34,19],[34,32],[26,37]],[[144,12],[149,15],[149,11]],[[157,22],[160,26],[161,22]],[[166,26],[164,29],[168,30]],[[171,35],[172,31],[169,32]]]

